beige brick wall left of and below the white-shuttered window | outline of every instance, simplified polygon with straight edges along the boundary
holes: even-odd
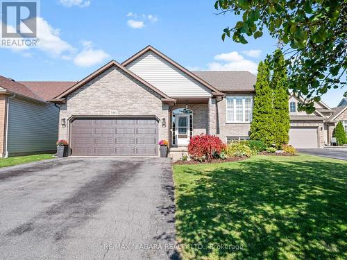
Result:
[[[248,137],[250,128],[251,123],[226,123],[226,98],[217,102],[217,136],[223,142],[226,137]]]

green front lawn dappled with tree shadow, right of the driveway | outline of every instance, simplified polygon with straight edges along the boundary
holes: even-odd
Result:
[[[175,165],[174,182],[183,259],[347,259],[347,162]]]

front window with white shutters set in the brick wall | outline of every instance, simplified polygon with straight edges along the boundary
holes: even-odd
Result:
[[[252,96],[226,97],[226,123],[250,123],[252,121]]]

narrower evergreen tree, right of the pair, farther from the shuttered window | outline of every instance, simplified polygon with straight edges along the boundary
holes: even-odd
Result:
[[[273,89],[273,122],[275,131],[273,132],[273,142],[280,147],[288,144],[289,141],[289,96],[287,92],[287,69],[285,58],[280,49],[273,55],[273,76],[271,78],[271,88]]]

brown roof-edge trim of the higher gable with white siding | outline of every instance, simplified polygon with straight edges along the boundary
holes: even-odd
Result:
[[[144,55],[148,51],[152,51],[153,53],[155,53],[156,55],[158,55],[160,58],[164,59],[165,61],[169,62],[171,65],[173,65],[174,67],[176,67],[180,71],[183,71],[184,73],[186,73],[191,78],[194,78],[194,80],[198,81],[198,83],[201,83],[202,85],[204,85],[208,89],[212,90],[212,94],[214,94],[215,96],[224,96],[224,94],[221,93],[219,91],[219,89],[217,89],[216,87],[212,86],[210,83],[208,83],[205,80],[203,80],[203,78],[200,78],[196,74],[192,73],[192,71],[189,71],[189,70],[185,69],[185,67],[181,66],[180,64],[178,64],[177,62],[175,62],[171,58],[167,57],[167,55],[164,55],[164,53],[161,53],[160,51],[158,51],[157,49],[155,49],[151,45],[146,46],[146,48],[142,49],[138,53],[135,53],[135,55],[131,56],[130,58],[128,58],[127,60],[125,60],[121,64],[124,67],[126,67],[128,64],[130,64],[131,62],[133,62],[137,58],[141,57],[142,55]]]

